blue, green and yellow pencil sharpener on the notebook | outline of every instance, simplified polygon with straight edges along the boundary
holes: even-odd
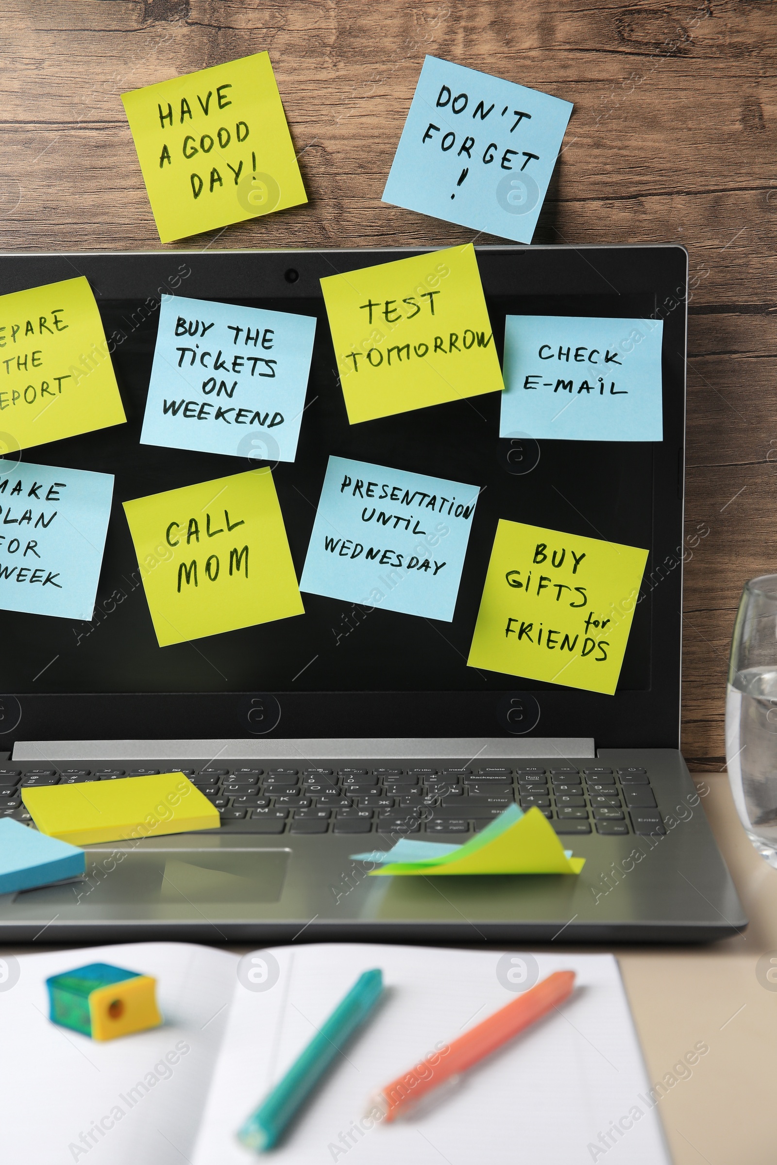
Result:
[[[47,979],[51,1023],[92,1039],[114,1039],[158,1028],[156,980],[136,970],[92,962]]]

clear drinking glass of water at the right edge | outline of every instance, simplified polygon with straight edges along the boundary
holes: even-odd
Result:
[[[726,761],[744,831],[777,868],[777,574],[746,582],[726,693]]]

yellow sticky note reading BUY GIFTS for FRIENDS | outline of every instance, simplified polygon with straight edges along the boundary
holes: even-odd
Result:
[[[501,520],[467,663],[613,696],[648,551]]]

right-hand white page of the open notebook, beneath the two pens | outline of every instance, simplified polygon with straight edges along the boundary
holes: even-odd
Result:
[[[563,969],[578,974],[577,991],[561,1014],[518,1036],[458,1086],[432,1094],[414,1120],[365,1130],[358,1122],[375,1089],[515,998],[497,979],[500,952],[326,944],[278,947],[271,954],[280,976],[269,989],[235,988],[192,1165],[256,1162],[234,1130],[370,967],[383,969],[387,997],[338,1058],[273,1160],[669,1163],[658,1118],[643,1099],[648,1080],[612,955],[537,954],[541,977]],[[592,1152],[588,1146],[615,1121],[622,1122],[620,1141],[614,1137],[609,1149]],[[602,1142],[599,1148],[603,1150]]]

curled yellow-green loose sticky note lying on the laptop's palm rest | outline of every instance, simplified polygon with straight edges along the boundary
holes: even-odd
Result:
[[[372,876],[464,874],[579,874],[585,857],[567,857],[558,834],[535,806],[511,805],[482,833],[439,861],[391,862]]]

